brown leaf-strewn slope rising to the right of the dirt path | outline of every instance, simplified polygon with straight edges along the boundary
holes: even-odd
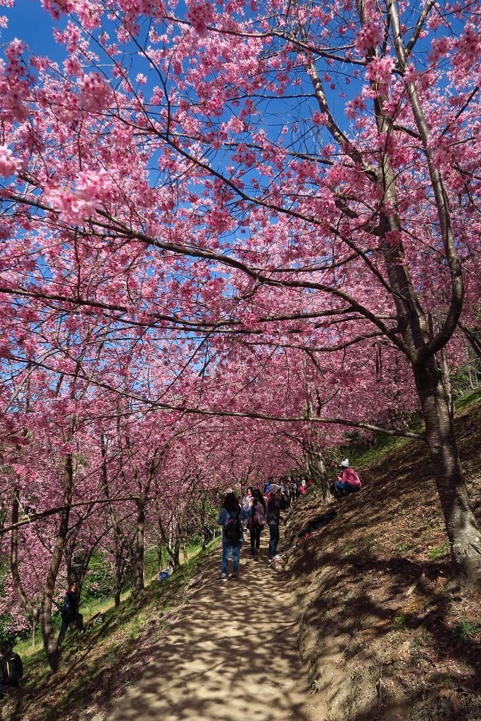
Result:
[[[456,425],[481,519],[479,401]],[[312,518],[337,518],[291,554],[299,643],[324,721],[481,719],[480,593],[450,583],[449,544],[426,448],[404,439],[353,456],[360,494],[290,514],[294,544]]]

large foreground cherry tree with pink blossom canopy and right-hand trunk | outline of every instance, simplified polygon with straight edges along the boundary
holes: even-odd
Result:
[[[2,355],[331,438],[395,388],[478,580],[447,374],[479,309],[479,4],[44,6],[63,63],[14,40],[1,68]]]

